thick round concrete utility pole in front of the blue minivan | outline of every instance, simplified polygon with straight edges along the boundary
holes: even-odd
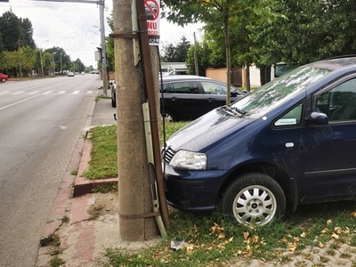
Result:
[[[125,240],[144,240],[156,238],[158,226],[152,214],[150,174],[142,113],[142,69],[140,65],[134,65],[135,43],[131,2],[113,1],[114,34],[120,36],[114,41],[117,83],[119,236]]]

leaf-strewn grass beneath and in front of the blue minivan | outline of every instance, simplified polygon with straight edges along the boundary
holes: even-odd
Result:
[[[263,227],[239,225],[219,211],[174,211],[166,239],[138,253],[108,248],[107,266],[246,266],[253,259],[289,264],[297,256],[313,263],[315,254],[319,259],[308,266],[323,266],[320,261],[328,263],[331,257],[356,266],[354,259],[346,257],[356,252],[354,208],[353,202],[301,206],[297,214],[286,214]],[[172,240],[185,245],[174,250]],[[344,245],[349,246],[348,252],[336,256]]]

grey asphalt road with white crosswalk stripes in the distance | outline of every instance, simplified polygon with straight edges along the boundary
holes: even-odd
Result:
[[[33,266],[99,76],[0,84],[0,266]]]

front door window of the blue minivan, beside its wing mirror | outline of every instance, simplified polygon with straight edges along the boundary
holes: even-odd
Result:
[[[321,93],[316,107],[328,115],[329,123],[356,120],[356,79]]]

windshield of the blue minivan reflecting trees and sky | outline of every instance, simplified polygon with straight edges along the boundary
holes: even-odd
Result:
[[[271,109],[303,91],[308,85],[330,73],[329,69],[304,66],[290,71],[286,76],[272,80],[244,98],[234,102],[231,107],[246,112],[246,117],[261,117]]]

